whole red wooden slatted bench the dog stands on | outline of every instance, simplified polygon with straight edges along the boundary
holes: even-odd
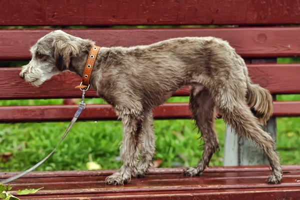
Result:
[[[273,118],[266,129],[276,138],[275,120],[300,116],[300,102],[276,101],[276,94],[300,94],[299,64],[276,64],[277,57],[300,56],[299,3],[280,1],[0,1],[0,26],[62,26],[74,36],[94,40],[98,46],[147,45],[168,38],[214,36],[227,40],[247,63],[254,83],[274,96]],[[111,29],[126,25],[222,25],[221,28]],[[234,26],[231,26],[234,25]],[[88,29],[68,29],[88,26]],[[106,26],[105,29],[95,27]],[[1,29],[0,61],[29,60],[28,48],[52,29]],[[0,99],[80,98],[74,87],[80,77],[63,73],[38,89],[18,76],[19,68],[0,68]],[[174,96],[187,96],[186,89]],[[94,90],[86,96],[95,97]],[[77,105],[2,106],[0,122],[71,120]],[[187,103],[166,103],[154,110],[155,119],[189,118]],[[87,105],[78,120],[115,120],[109,105]],[[249,149],[251,155],[248,156]],[[283,166],[281,184],[264,183],[270,172],[265,158],[251,143],[238,139],[228,128],[225,167],[207,168],[203,175],[185,177],[182,168],[151,169],[145,178],[132,178],[124,186],[104,184],[113,170],[31,172],[11,184],[13,188],[44,187],[23,199],[298,199],[300,166]],[[251,158],[255,157],[255,160]],[[243,158],[243,159],[241,159]],[[244,166],[264,165],[267,166]],[[231,165],[231,166],[229,166]],[[16,172],[0,173],[0,179]]]

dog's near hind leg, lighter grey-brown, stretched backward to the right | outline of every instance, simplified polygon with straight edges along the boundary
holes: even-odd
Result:
[[[279,183],[282,170],[279,156],[273,149],[272,137],[258,126],[257,118],[251,113],[245,99],[246,88],[241,84],[231,84],[231,88],[223,87],[222,92],[215,91],[214,100],[223,120],[240,137],[251,140],[266,154],[272,168],[268,183]],[[234,92],[233,92],[234,91]]]

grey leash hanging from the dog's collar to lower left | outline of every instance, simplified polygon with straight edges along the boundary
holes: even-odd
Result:
[[[85,109],[85,103],[84,103],[84,95],[85,95],[85,90],[82,90],[82,99],[81,102],[79,103],[79,107],[74,115],[74,117],[72,118],[70,124],[68,125],[66,131],[64,132],[62,138],[60,139],[59,143],[57,144],[57,146],[52,150],[51,153],[49,153],[44,159],[42,159],[41,161],[39,161],[37,164],[35,164],[34,166],[32,166],[31,168],[27,169],[26,171],[23,171],[20,174],[14,175],[10,178],[1,180],[0,183],[8,183],[11,182],[12,180],[15,180],[27,173],[29,173],[30,171],[34,170],[36,167],[38,167],[39,165],[41,165],[46,159],[48,159],[48,157],[50,157],[50,155],[56,150],[56,148],[58,147],[58,145],[62,142],[62,140],[65,138],[65,136],[67,135],[67,133],[69,132],[69,130],[71,129],[71,127],[73,126],[73,124],[75,123],[75,121],[77,120],[77,118],[79,117],[80,113],[82,112],[82,110]]]

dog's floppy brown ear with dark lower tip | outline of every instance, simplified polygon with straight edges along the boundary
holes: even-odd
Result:
[[[55,66],[59,71],[67,70],[71,57],[79,53],[79,49],[74,41],[56,40],[53,42]]]

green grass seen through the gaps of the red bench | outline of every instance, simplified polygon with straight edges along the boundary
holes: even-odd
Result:
[[[281,63],[298,62],[295,59],[278,59]],[[299,101],[300,95],[278,95],[278,101]],[[173,97],[168,102],[188,102],[188,97]],[[87,99],[87,104],[101,104],[102,99]],[[49,100],[1,100],[4,105],[62,104],[62,99]],[[175,112],[175,111],[174,111]],[[277,118],[277,151],[282,164],[300,164],[300,118]],[[59,142],[68,122],[0,124],[0,171],[22,171],[44,158]],[[221,166],[225,124],[216,120],[220,151],[210,161],[210,166]],[[156,154],[160,167],[194,166],[202,155],[202,141],[197,138],[191,120],[155,120]],[[86,169],[88,154],[103,169],[121,166],[119,143],[122,139],[120,121],[78,121],[57,148],[36,170]],[[0,157],[1,158],[1,157]]]

